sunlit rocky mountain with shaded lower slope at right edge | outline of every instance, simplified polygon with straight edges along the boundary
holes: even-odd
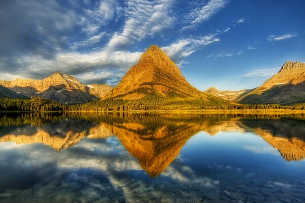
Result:
[[[292,105],[305,102],[305,63],[286,62],[278,74],[239,97],[241,104]]]

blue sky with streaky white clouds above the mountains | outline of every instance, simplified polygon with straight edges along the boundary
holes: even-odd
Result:
[[[199,90],[251,89],[305,62],[302,0],[0,0],[0,80],[115,86],[158,45]]]

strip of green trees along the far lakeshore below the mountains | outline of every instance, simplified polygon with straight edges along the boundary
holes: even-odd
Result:
[[[217,101],[215,101],[217,103]],[[305,104],[281,106],[279,104],[267,105],[209,105],[202,99],[179,99],[177,97],[162,97],[149,95],[141,99],[124,100],[105,99],[83,105],[64,105],[42,98],[12,99],[0,98],[0,111],[25,112],[62,112],[62,111],[135,111],[135,110],[305,110]]]

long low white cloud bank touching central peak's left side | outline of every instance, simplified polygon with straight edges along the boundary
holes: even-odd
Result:
[[[39,56],[24,56],[17,63],[26,66],[22,78],[35,75],[50,75],[56,71],[76,76],[83,83],[101,82],[123,77],[129,67],[137,63],[141,52],[100,50],[87,54],[77,52],[59,53],[54,59]],[[42,70],[41,67],[44,67]],[[15,79],[10,77],[10,79]]]

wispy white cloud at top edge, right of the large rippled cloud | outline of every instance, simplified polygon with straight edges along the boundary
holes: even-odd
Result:
[[[199,23],[208,20],[212,15],[216,14],[220,9],[228,3],[226,0],[210,0],[204,7],[197,7],[187,16],[190,20],[190,25],[185,26],[182,30],[194,28]]]

